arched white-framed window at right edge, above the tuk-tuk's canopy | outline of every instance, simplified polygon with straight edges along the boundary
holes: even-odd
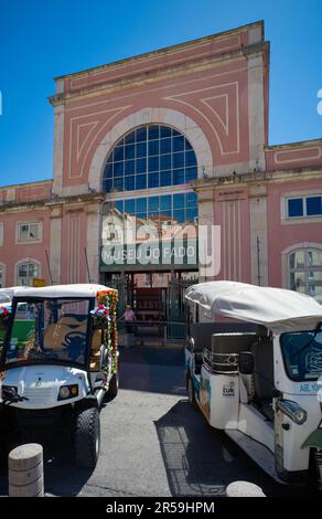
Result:
[[[289,288],[322,303],[322,246],[297,248],[288,255]]]

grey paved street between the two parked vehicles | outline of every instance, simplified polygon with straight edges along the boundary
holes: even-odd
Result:
[[[121,389],[101,410],[101,453],[94,473],[73,465],[71,445],[45,444],[45,491],[55,496],[217,496],[244,479],[270,496],[304,494],[275,484],[186,400],[183,352],[121,351]],[[0,494],[7,494],[0,472]]]

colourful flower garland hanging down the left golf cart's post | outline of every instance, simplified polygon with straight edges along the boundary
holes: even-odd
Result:
[[[105,329],[105,343],[108,351],[108,362],[106,367],[107,375],[117,372],[117,303],[118,293],[114,289],[100,290],[96,295],[98,306],[90,311],[95,318],[95,325]],[[109,385],[109,377],[107,379],[106,389]]]

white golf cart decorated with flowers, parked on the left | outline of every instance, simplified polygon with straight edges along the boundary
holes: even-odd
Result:
[[[67,428],[76,463],[95,467],[99,409],[118,391],[116,305],[117,290],[101,285],[13,289],[0,366],[9,442],[30,427]]]

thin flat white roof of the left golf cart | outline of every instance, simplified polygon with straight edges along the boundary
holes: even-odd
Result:
[[[98,292],[115,290],[104,285],[94,284],[73,284],[73,285],[53,285],[39,288],[15,287],[13,297],[41,297],[44,299],[58,297],[96,297]]]

